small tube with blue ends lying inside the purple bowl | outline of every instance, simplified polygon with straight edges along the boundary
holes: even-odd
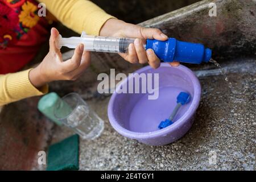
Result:
[[[164,129],[167,126],[172,125],[174,122],[174,117],[177,114],[177,111],[179,111],[180,106],[188,104],[188,102],[190,101],[190,94],[186,93],[186,92],[180,92],[179,96],[177,96],[177,105],[175,106],[174,110],[172,111],[172,114],[170,115],[170,117],[168,119],[166,119],[165,121],[160,122],[160,125],[158,126],[158,128]]]

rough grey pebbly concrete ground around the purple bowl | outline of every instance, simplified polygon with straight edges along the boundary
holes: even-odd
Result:
[[[166,146],[122,137],[108,121],[109,97],[88,100],[104,119],[105,130],[96,140],[81,140],[80,169],[255,170],[255,59],[250,63],[254,71],[229,73],[229,82],[222,75],[200,77],[202,97],[195,123],[183,138]],[[52,143],[71,134],[58,127]]]

